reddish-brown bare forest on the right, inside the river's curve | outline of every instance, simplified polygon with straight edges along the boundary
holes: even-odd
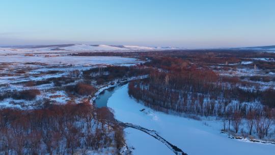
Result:
[[[250,76],[251,80],[245,81],[239,76],[219,75],[209,65],[198,66],[192,61],[180,57],[151,58],[144,65],[154,71],[146,79],[131,81],[129,95],[145,106],[169,114],[219,117],[224,120],[224,131],[238,133],[242,123],[250,135],[255,128],[260,139],[268,136],[275,123],[272,87],[257,89],[254,81],[258,76]],[[201,59],[200,64],[209,61]],[[251,87],[255,89],[249,89]]]

